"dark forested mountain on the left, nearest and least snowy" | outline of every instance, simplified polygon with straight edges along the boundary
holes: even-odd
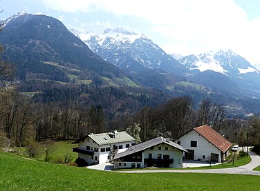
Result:
[[[19,80],[69,82],[74,78],[105,83],[104,77],[112,81],[125,77],[53,17],[19,12],[5,23],[0,43],[17,66]]]

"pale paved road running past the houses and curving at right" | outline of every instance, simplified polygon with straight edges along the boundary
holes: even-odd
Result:
[[[207,170],[130,170],[130,171],[118,171],[124,173],[154,173],[154,172],[189,172],[189,173],[215,173],[215,174],[250,174],[260,176],[260,171],[254,171],[253,169],[260,165],[260,157],[254,152],[249,151],[251,162],[247,165],[234,168],[221,168],[221,169],[207,169]]]

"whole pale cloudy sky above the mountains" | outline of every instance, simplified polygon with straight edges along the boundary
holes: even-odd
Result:
[[[260,63],[259,0],[1,0],[0,8],[0,19],[41,12],[67,28],[142,32],[167,53],[228,48]]]

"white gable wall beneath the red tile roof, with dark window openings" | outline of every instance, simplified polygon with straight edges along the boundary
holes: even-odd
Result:
[[[209,160],[211,153],[215,153],[219,154],[219,162],[221,162],[221,150],[216,148],[212,143],[194,130],[185,134],[183,137],[180,137],[178,141],[180,141],[180,145],[186,150],[194,150],[194,160],[206,161]],[[191,147],[191,141],[197,141],[197,147]],[[203,155],[205,156],[205,159],[203,159]],[[185,155],[183,154],[183,156]]]

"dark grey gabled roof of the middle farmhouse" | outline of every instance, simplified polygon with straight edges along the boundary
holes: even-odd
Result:
[[[165,144],[170,145],[174,148],[177,148],[178,150],[182,150],[184,152],[187,152],[187,150],[185,148],[183,148],[181,145],[178,145],[177,143],[174,143],[173,141],[169,141],[169,140],[165,139],[164,137],[156,137],[156,138],[151,139],[149,141],[139,143],[138,145],[133,145],[133,146],[129,147],[128,150],[126,150],[124,152],[120,152],[120,153],[115,154],[115,157],[113,157],[113,159],[119,159],[119,158],[125,157],[129,154],[133,154],[133,153],[136,153],[136,152],[140,152],[142,150],[146,150],[147,148],[154,147],[156,145],[159,145],[160,143],[165,143]]]

